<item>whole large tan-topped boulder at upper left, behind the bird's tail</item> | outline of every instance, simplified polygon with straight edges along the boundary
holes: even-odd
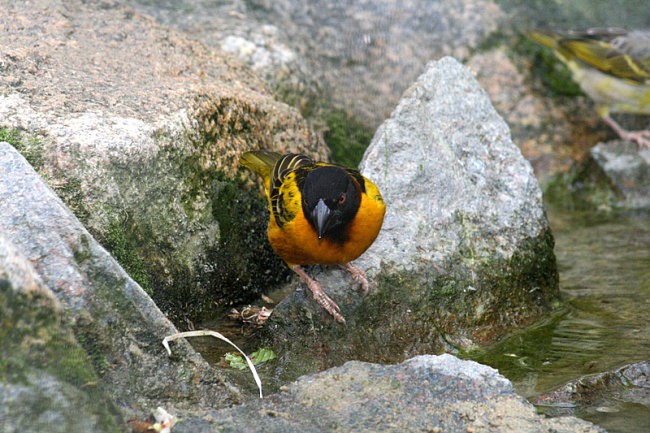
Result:
[[[241,152],[327,151],[250,68],[104,3],[0,0],[0,128],[186,326],[256,297],[254,275],[288,272],[261,229],[265,202],[236,180]]]

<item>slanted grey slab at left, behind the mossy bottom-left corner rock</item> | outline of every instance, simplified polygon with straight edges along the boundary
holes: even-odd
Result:
[[[161,404],[182,414],[190,409],[196,411],[201,405],[226,406],[239,399],[239,391],[210,369],[189,344],[177,344],[175,356],[167,356],[161,343],[166,335],[177,332],[174,326],[7,143],[0,143],[0,202],[0,233],[12,244],[15,255],[31,261],[38,279],[61,304],[60,308],[50,301],[52,305],[42,308],[33,304],[30,314],[40,317],[54,311],[65,317],[65,324],[73,330],[92,367],[83,363],[84,354],[72,337],[70,352],[51,356],[43,352],[48,356],[47,363],[73,368],[66,360],[73,355],[80,357],[80,366],[75,368],[88,368],[87,382],[97,374],[100,387],[119,402],[124,419],[148,413]],[[2,278],[8,279],[12,287],[26,285],[13,283],[23,277],[12,268],[3,268],[3,273],[6,276]],[[3,329],[24,328],[19,316],[3,314],[3,320],[7,320]],[[58,332],[56,321],[46,321],[39,327],[44,332]],[[33,358],[21,362],[29,371]],[[75,372],[59,373],[65,376]],[[48,378],[43,380],[47,382]],[[38,394],[40,384],[45,382],[34,379],[35,386],[26,392],[47,400],[47,393]],[[79,379],[72,382],[79,387],[72,394],[87,393]],[[65,400],[64,396],[57,398]],[[59,403],[57,408],[65,407],[65,401]]]

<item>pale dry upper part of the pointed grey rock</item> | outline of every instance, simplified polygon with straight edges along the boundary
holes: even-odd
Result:
[[[360,168],[388,208],[360,261],[366,268],[445,268],[457,258],[475,268],[509,260],[548,234],[530,164],[487,94],[450,57],[431,63],[406,91]]]

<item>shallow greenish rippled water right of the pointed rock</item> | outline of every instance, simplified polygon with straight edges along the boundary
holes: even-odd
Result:
[[[563,307],[475,359],[534,400],[579,376],[650,359],[650,216],[551,210]],[[611,433],[650,431],[650,408],[604,401],[573,412]]]

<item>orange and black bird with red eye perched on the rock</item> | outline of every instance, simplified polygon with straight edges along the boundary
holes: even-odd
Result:
[[[379,188],[358,170],[314,161],[299,153],[255,150],[239,164],[262,176],[269,207],[268,240],[337,322],[339,306],[302,265],[339,265],[368,292],[365,272],[350,262],[381,229],[386,205]]]

